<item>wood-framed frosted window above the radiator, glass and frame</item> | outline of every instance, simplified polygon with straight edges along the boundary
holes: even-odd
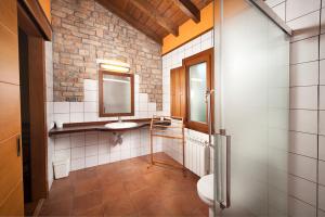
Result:
[[[208,132],[208,107],[206,92],[213,88],[212,49],[183,61],[186,77],[186,127]],[[213,119],[213,99],[211,99]]]

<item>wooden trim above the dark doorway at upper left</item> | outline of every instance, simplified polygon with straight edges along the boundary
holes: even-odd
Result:
[[[46,40],[52,40],[51,24],[37,0],[18,0],[18,4],[28,13]]]

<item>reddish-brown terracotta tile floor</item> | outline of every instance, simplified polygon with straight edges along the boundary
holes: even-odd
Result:
[[[156,154],[178,164],[164,153]],[[148,156],[70,173],[55,180],[41,216],[208,216],[198,177],[170,167],[147,168]]]

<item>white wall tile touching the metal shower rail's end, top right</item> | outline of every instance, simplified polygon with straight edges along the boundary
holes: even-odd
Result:
[[[301,16],[287,23],[294,30],[291,41],[320,35],[320,11]]]

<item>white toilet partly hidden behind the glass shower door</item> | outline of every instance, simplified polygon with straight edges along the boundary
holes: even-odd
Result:
[[[213,217],[213,174],[198,180],[197,193],[200,200],[209,206],[209,217]]]

